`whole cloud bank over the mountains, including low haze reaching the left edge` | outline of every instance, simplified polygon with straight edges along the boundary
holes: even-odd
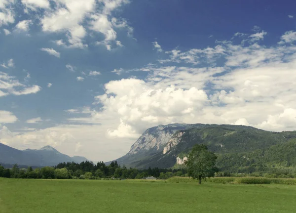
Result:
[[[251,41],[260,36],[244,38]],[[125,154],[145,129],[159,124],[235,124],[295,130],[295,52],[294,45],[242,45],[231,39],[204,49],[173,49],[160,66],[114,71],[148,73],[143,79],[108,82],[105,92],[95,96],[89,106],[65,112],[69,116],[67,125],[1,140],[16,146],[51,144],[66,153],[75,153],[76,144],[88,141],[104,150],[99,151],[101,159],[112,160]],[[81,155],[87,150],[88,156],[98,156],[97,150],[77,146]]]

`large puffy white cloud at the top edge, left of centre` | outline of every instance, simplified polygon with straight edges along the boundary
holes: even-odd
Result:
[[[128,3],[128,0],[55,0],[56,7],[51,9],[48,8],[47,1],[40,2],[40,5],[36,2],[37,0],[30,0],[30,5],[34,4],[31,9],[45,8],[45,15],[40,20],[42,30],[66,33],[68,41],[57,40],[58,45],[84,48],[87,45],[83,43],[83,39],[87,35],[87,30],[90,29],[102,33],[105,39],[97,43],[111,49],[111,42],[116,39],[114,28],[126,28],[128,34],[132,34],[133,31],[126,20],[117,20],[111,15],[113,10]],[[84,25],[88,26],[87,28],[83,26],[84,22],[87,23]],[[116,44],[120,46],[121,43],[118,42]]]

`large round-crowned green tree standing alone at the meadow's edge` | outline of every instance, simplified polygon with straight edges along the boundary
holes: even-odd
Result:
[[[194,179],[201,180],[206,177],[212,177],[217,171],[215,167],[217,156],[208,150],[205,144],[196,144],[193,146],[185,162],[188,175]]]

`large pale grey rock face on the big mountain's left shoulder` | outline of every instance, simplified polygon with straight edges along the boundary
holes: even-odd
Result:
[[[147,151],[161,151],[176,131],[185,128],[186,125],[182,124],[160,125],[154,128],[149,128],[132,145],[128,155],[135,155]]]

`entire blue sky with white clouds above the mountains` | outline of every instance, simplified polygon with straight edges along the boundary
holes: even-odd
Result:
[[[296,130],[294,0],[0,0],[0,141],[111,161],[171,123]]]

